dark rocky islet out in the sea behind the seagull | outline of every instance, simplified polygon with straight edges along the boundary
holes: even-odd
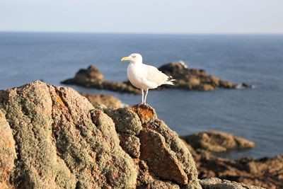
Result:
[[[183,61],[164,64],[158,69],[168,76],[173,76],[176,81],[174,86],[164,85],[158,87],[157,90],[162,88],[181,88],[189,91],[212,91],[216,88],[238,88],[237,84],[208,75],[203,69],[189,69]],[[132,86],[129,81],[106,81],[103,74],[93,65],[87,69],[80,69],[74,78],[62,81],[62,84],[105,89],[120,93],[140,93],[140,90]],[[241,84],[241,88],[249,87],[251,87],[249,84]]]

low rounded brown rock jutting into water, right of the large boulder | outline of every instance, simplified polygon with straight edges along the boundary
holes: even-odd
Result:
[[[194,149],[226,151],[228,149],[246,149],[255,147],[255,143],[242,137],[225,132],[207,131],[183,137]]]

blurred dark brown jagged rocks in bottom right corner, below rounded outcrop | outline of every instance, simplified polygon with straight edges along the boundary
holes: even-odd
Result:
[[[192,149],[186,144],[195,159],[199,178],[221,178],[229,181],[277,189],[283,185],[283,155],[275,158],[224,159],[204,149]],[[204,188],[204,186],[202,185]],[[217,188],[217,187],[216,187]]]

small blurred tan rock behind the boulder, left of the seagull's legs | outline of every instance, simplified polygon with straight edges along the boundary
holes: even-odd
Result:
[[[107,94],[88,94],[81,93],[81,96],[88,98],[88,101],[93,105],[106,105],[108,108],[121,108],[122,102],[115,98],[114,96],[110,96]]]

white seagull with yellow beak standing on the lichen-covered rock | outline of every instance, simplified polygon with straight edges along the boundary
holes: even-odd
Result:
[[[151,88],[157,88],[163,84],[173,85],[175,79],[159,71],[156,67],[142,63],[142,57],[133,53],[123,57],[121,61],[129,61],[127,76],[131,84],[141,89],[141,105],[146,105],[146,96]]]

